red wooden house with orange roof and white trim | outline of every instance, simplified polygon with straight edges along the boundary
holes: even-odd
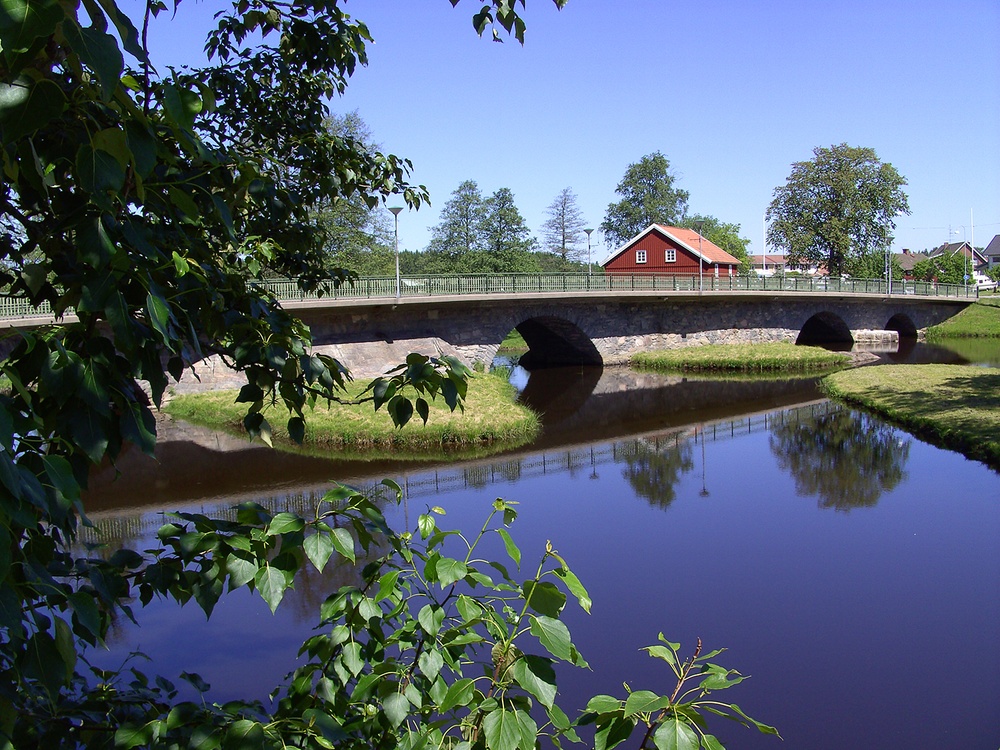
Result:
[[[736,276],[739,258],[693,229],[650,224],[601,263],[609,274]]]

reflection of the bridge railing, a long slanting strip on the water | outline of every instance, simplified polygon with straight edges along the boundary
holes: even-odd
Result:
[[[839,412],[843,409],[833,401],[813,401],[781,411],[765,411],[742,417],[698,422],[666,430],[633,436],[626,440],[570,446],[541,452],[526,451],[507,455],[500,460],[481,460],[461,466],[428,470],[412,469],[395,472],[395,480],[403,491],[403,498],[421,500],[465,490],[482,490],[493,485],[510,484],[521,479],[569,475],[594,474],[601,467],[613,466],[648,453],[676,448],[690,441],[718,443],[753,433],[767,432],[774,427],[808,422],[816,417]],[[344,479],[341,484],[357,489],[361,494],[388,503],[392,492],[381,484],[382,477],[357,477]],[[326,494],[328,486],[314,487],[286,494],[268,494],[253,501],[271,513],[289,511],[302,516],[312,515]],[[206,513],[214,518],[236,520],[233,502],[206,502],[183,509],[188,513]],[[90,514],[92,527],[81,530],[85,543],[108,542],[124,546],[154,535],[166,519],[161,510],[103,511]]]

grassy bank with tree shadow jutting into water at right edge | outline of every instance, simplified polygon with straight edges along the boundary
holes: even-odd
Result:
[[[881,365],[833,373],[821,387],[929,443],[1000,470],[1000,371],[964,365]]]

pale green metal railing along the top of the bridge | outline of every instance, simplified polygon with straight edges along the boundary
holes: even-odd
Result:
[[[295,279],[268,279],[261,286],[282,302],[305,300],[393,299],[397,296],[394,276],[366,276],[350,283],[315,292],[303,292]],[[837,279],[785,276],[701,276],[665,274],[586,273],[483,273],[440,276],[403,276],[399,297],[452,297],[466,294],[557,294],[587,292],[798,292],[815,294],[867,294],[920,297],[976,298],[979,290],[961,284],[926,281],[893,281],[891,288],[880,279]],[[33,307],[21,297],[0,294],[0,320],[51,318],[47,303]]]

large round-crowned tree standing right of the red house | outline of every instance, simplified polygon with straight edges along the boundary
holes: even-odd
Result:
[[[767,209],[771,246],[792,263],[808,261],[839,276],[852,259],[892,244],[895,217],[910,212],[906,180],[870,148],[841,143],[796,162]]]

